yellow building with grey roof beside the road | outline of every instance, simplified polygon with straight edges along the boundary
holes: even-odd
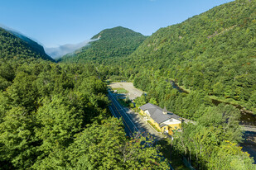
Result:
[[[166,107],[162,109],[159,106],[147,103],[139,108],[144,119],[149,120],[162,133],[173,135],[175,131],[181,130],[181,117],[167,111]]]

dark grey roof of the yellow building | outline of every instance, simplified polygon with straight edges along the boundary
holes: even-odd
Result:
[[[171,113],[171,111],[167,111],[167,114],[162,113],[162,108],[151,103],[147,103],[143,106],[139,107],[142,111],[148,111],[151,115],[152,120],[155,120],[157,124],[161,124],[162,122],[169,120],[171,118],[180,119],[180,116]]]

